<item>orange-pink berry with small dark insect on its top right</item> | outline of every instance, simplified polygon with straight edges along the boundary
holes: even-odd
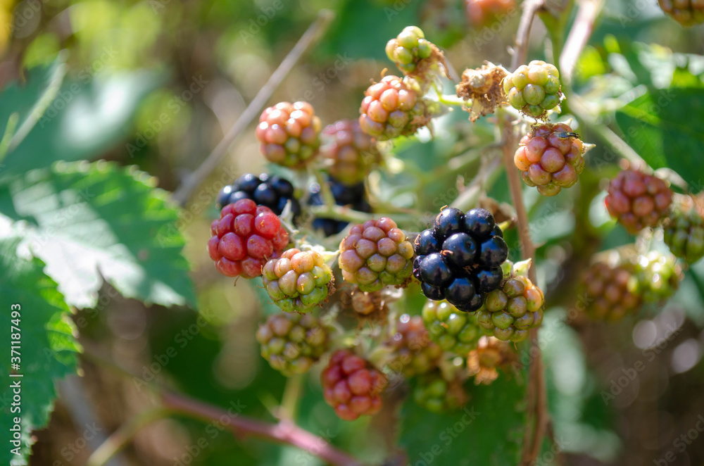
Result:
[[[534,127],[520,141],[513,162],[523,182],[543,196],[574,186],[584,170],[584,144],[564,123]]]

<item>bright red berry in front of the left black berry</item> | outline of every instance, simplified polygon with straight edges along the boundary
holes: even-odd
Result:
[[[223,207],[210,232],[208,253],[227,277],[258,277],[267,260],[279,257],[289,244],[289,234],[276,214],[250,199]]]

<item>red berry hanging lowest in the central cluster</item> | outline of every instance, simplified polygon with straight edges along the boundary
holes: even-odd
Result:
[[[341,419],[356,420],[382,408],[386,376],[349,350],[338,350],[320,374],[322,393]]]

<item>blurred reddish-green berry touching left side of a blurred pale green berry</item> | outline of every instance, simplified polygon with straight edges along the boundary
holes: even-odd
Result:
[[[580,296],[592,320],[620,320],[638,312],[643,303],[634,267],[628,263],[616,267],[591,265],[582,278]]]

